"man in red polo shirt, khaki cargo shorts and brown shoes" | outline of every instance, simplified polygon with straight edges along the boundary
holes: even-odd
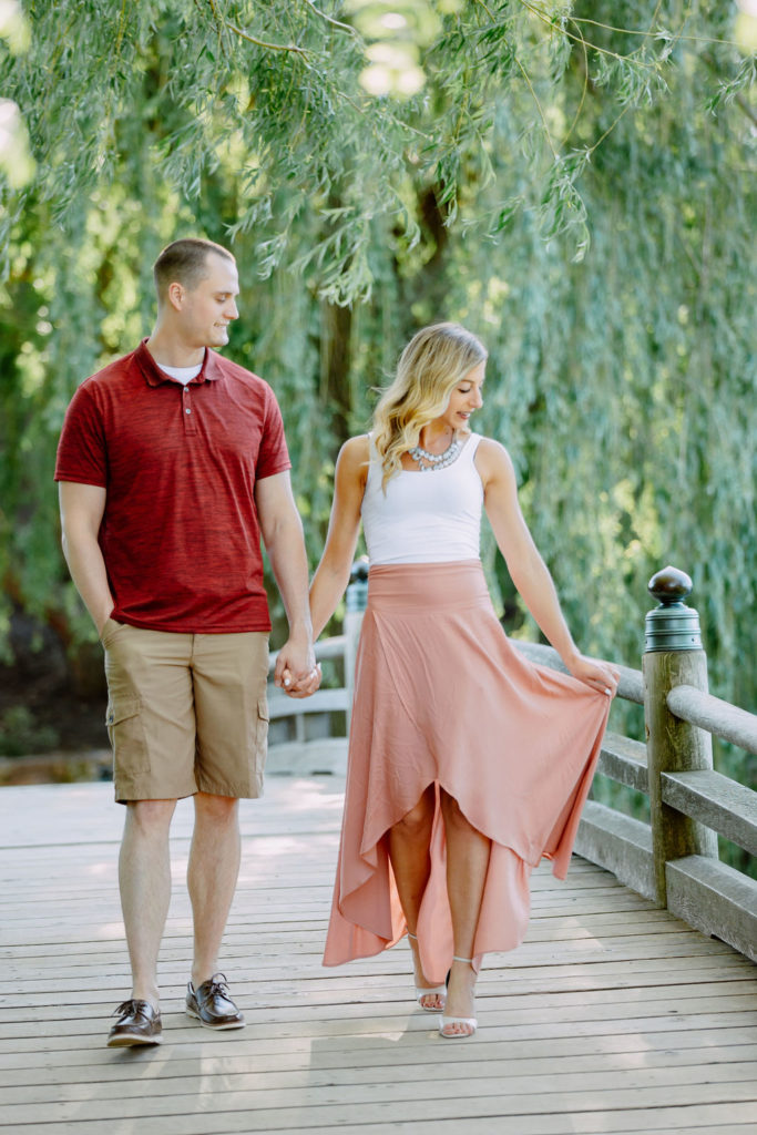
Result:
[[[238,316],[234,257],[177,241],[154,279],[152,335],[78,388],[56,468],[66,561],[104,647],[116,799],[126,805],[119,886],[133,989],[110,1045],[161,1040],[169,827],[186,796],[186,1010],[208,1028],[244,1026],[217,970],[239,866],[238,799],[261,792],[268,733],[261,535],[289,623],[276,683],[295,697],[319,683],[279,409],[266,382],[212,350]]]

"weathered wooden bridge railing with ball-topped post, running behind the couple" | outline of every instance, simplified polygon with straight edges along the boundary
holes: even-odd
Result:
[[[597,770],[648,796],[650,822],[588,800],[575,851],[689,925],[757,960],[757,881],[720,861],[716,834],[757,855],[757,792],[715,772],[712,755],[713,735],[757,754],[757,715],[707,691],[698,617],[681,602],[690,586],[674,569],[650,581],[650,590],[663,602],[647,619],[644,669],[619,667],[619,697],[645,707],[647,742],[608,731]],[[321,659],[347,659],[345,686],[319,690],[303,701],[279,691],[269,698],[272,720],[295,717],[301,743],[306,743],[305,714],[348,714],[360,633],[359,604],[352,607],[347,633],[317,647]],[[661,616],[657,625],[655,616]],[[532,662],[565,670],[552,647],[512,641]]]

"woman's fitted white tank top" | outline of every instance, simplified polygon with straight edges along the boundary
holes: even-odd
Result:
[[[460,456],[444,469],[401,470],[385,494],[384,470],[370,437],[361,514],[371,565],[480,557],[483,485],[473,464],[480,440],[479,434],[471,434]]]

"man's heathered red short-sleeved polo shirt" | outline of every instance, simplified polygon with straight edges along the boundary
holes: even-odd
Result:
[[[268,631],[254,489],[289,465],[267,382],[205,350],[183,387],[142,343],[79,386],[56,480],[108,490],[99,540],[118,622]]]

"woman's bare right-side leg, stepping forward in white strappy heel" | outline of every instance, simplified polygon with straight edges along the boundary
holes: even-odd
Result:
[[[459,958],[473,957],[483,886],[489,868],[491,840],[469,824],[457,801],[441,790],[441,815],[447,841],[447,893],[452,911],[454,952]],[[464,961],[453,961],[445,1016],[474,1016],[476,973]],[[448,1035],[468,1035],[468,1025],[449,1025]]]

